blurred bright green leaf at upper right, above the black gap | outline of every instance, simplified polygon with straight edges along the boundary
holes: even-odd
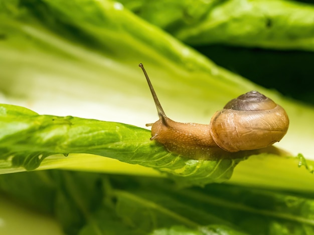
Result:
[[[120,2],[193,45],[226,43],[314,50],[312,4],[288,0]]]

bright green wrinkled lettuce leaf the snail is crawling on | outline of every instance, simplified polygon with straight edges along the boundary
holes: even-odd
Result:
[[[39,115],[29,109],[8,104],[0,105],[0,128],[3,130],[0,135],[2,153],[0,172],[3,173],[17,171],[19,167],[34,170],[47,156],[57,153],[63,154],[59,158],[63,158],[65,161],[69,153],[89,153],[167,172],[170,177],[174,177],[182,185],[205,185],[229,179],[234,167],[245,159],[246,155],[251,155],[251,158],[257,160],[262,159],[263,156],[271,156],[262,159],[262,162],[269,161],[272,165],[279,165],[280,162],[281,167],[282,165],[286,167],[284,168],[286,171],[280,171],[283,182],[278,181],[272,186],[279,184],[280,187],[298,188],[298,180],[302,180],[301,188],[312,190],[312,178],[304,174],[304,171],[301,174],[296,172],[290,179],[291,172],[297,169],[297,162],[303,160],[300,165],[309,168],[305,159],[278,157],[283,153],[273,147],[231,155],[238,158],[226,156],[226,158],[220,159],[191,159],[170,153],[162,145],[150,141],[150,132],[143,128],[73,116]],[[253,156],[259,151],[263,153]],[[265,168],[263,167],[262,170]],[[247,169],[253,169],[255,175],[260,173],[254,169],[254,166],[247,167]],[[273,169],[271,173],[279,174],[278,170]],[[309,170],[312,171],[312,169]],[[265,179],[267,174],[261,173],[264,174]],[[245,175],[248,175],[247,172]],[[244,178],[246,177],[244,176]],[[291,180],[294,180],[295,183],[292,184]],[[241,177],[239,181],[241,182]],[[255,179],[252,180],[251,177],[251,180],[247,180],[246,183],[254,183],[254,181]]]

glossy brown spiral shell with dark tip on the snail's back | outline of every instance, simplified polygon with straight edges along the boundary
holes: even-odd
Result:
[[[210,122],[214,141],[226,151],[258,149],[278,142],[287,132],[289,118],[273,100],[250,91],[232,99]]]

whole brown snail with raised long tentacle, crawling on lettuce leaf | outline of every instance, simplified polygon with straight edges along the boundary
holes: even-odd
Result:
[[[151,126],[151,140],[184,156],[194,158],[236,157],[239,151],[261,149],[281,140],[289,126],[285,110],[273,100],[252,90],[230,100],[209,124],[182,123],[170,119],[153,89],[143,65],[159,120]],[[249,151],[249,154],[254,153]]]

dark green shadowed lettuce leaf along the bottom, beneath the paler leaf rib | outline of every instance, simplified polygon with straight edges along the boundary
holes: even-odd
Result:
[[[24,193],[21,189],[12,190],[12,183],[23,185],[36,178],[36,183],[26,187]],[[228,184],[179,190],[173,181],[163,178],[66,170],[4,174],[0,177],[0,188],[33,205],[46,201],[66,234],[314,231],[312,194]],[[46,193],[50,196],[44,197]]]

